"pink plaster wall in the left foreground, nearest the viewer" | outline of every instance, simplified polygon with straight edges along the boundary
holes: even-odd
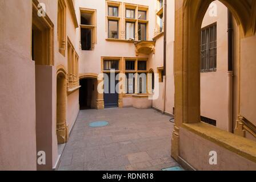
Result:
[[[31,14],[30,1],[0,1],[0,170],[37,169]]]

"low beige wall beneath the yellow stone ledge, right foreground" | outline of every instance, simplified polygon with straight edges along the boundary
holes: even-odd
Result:
[[[256,163],[218,144],[181,128],[179,156],[199,171],[255,171]],[[217,152],[217,165],[210,165],[210,151]]]

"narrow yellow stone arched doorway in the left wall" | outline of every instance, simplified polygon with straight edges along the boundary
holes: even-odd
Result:
[[[64,71],[57,72],[57,141],[58,144],[67,142],[68,129],[66,124],[66,107],[67,107],[67,86],[66,74]]]

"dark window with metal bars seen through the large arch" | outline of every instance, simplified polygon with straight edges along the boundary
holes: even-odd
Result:
[[[203,28],[201,33],[201,72],[217,70],[217,23]]]

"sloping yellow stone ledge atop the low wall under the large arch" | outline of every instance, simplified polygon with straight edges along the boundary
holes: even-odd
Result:
[[[256,142],[253,140],[239,137],[203,122],[183,123],[182,127],[256,163]]]

